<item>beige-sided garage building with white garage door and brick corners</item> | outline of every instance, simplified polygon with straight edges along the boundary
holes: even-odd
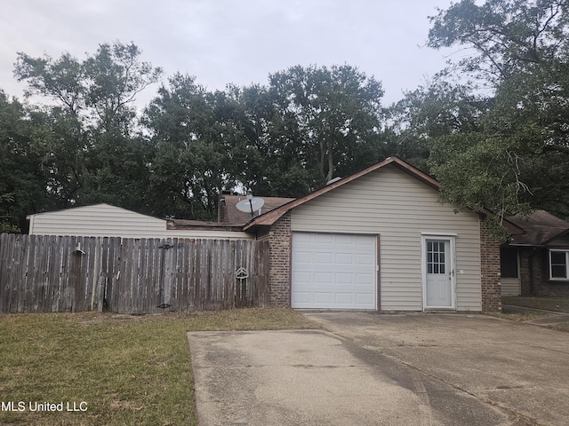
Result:
[[[391,157],[252,218],[244,231],[269,241],[271,305],[499,310],[500,246],[439,187]]]

